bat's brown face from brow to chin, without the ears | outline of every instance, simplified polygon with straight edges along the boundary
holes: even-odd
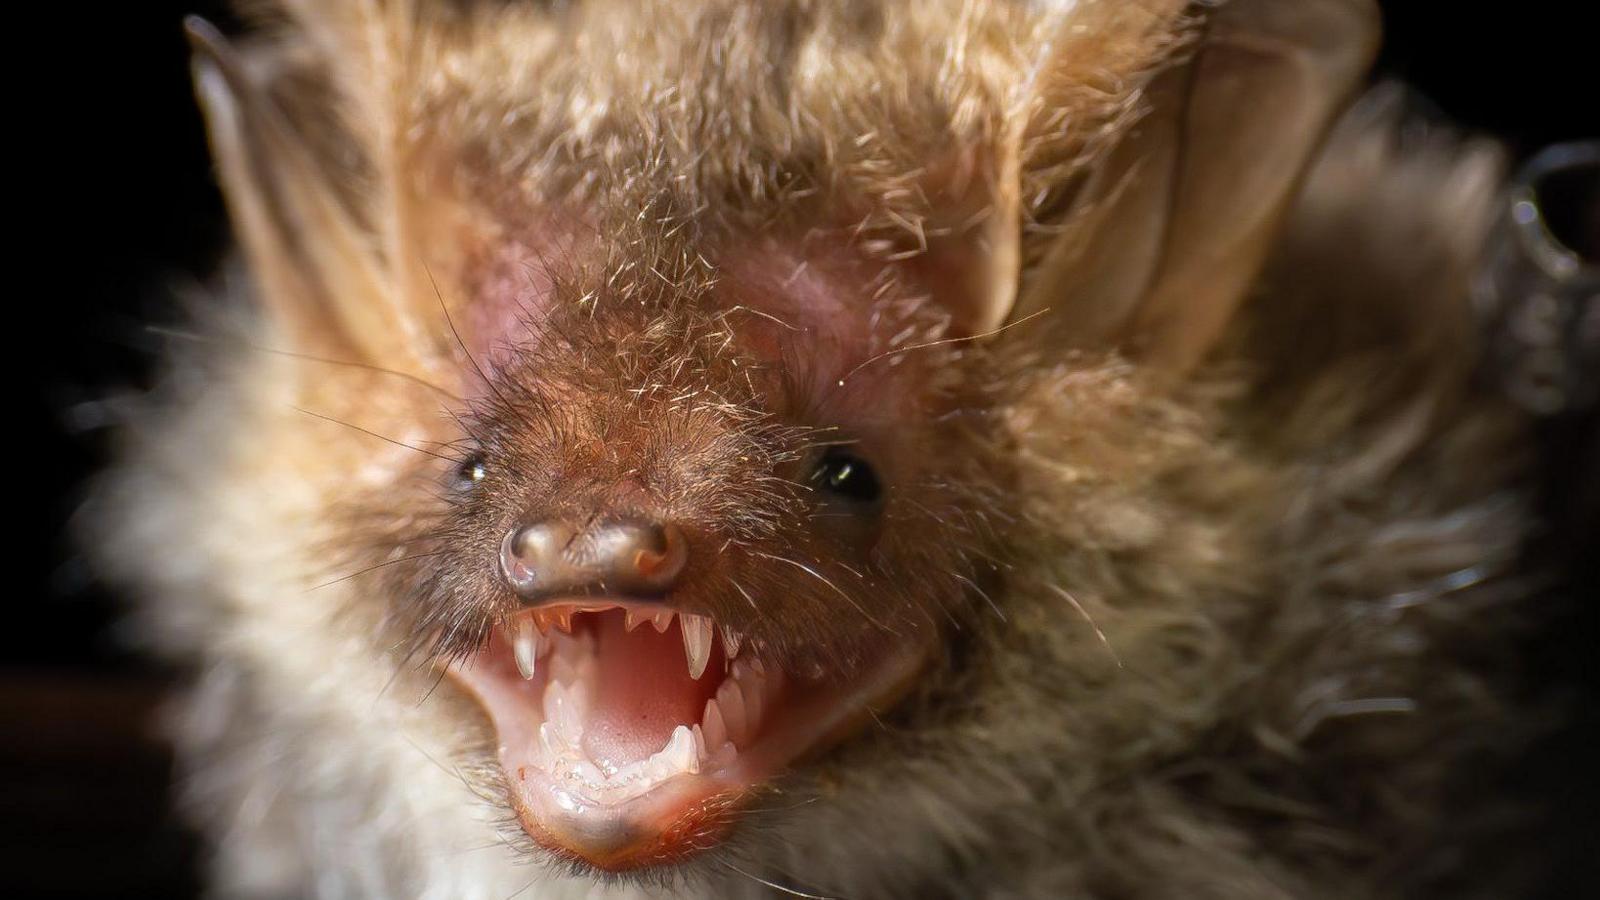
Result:
[[[622,870],[715,846],[965,615],[1000,471],[963,471],[982,416],[950,372],[971,364],[880,349],[944,317],[851,299],[854,272],[795,255],[670,288],[648,272],[666,261],[643,266],[659,287],[536,279],[536,320],[474,340],[486,368],[426,490],[355,503],[413,522],[373,544],[370,565],[406,559],[384,578],[392,631],[482,706],[512,809],[560,855]]]

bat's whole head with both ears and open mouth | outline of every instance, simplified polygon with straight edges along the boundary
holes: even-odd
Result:
[[[285,681],[442,673],[414,740],[578,865],[950,838],[938,810],[1059,749],[1016,716],[1053,689],[1008,666],[1070,658],[1080,700],[1104,676],[1104,636],[1058,652],[1088,613],[1056,565],[1155,552],[1130,496],[1205,455],[1171,386],[1370,56],[1366,3],[1286,8],[285,3],[238,50],[194,26],[299,410],[230,464],[283,485],[256,514],[291,556],[355,572],[294,601],[349,636],[334,674]],[[1165,578],[1216,575],[1184,548]],[[371,730],[336,706],[331,733]],[[1083,714],[1075,740],[1114,740]]]

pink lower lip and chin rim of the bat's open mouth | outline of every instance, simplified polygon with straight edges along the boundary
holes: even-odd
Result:
[[[470,666],[448,671],[494,724],[512,810],[523,831],[546,850],[605,871],[675,865],[717,847],[752,793],[786,769],[837,745],[898,700],[928,658],[922,647],[902,649],[846,684],[790,679],[766,713],[760,733],[731,759],[702,754],[698,770],[680,772],[643,793],[608,802],[603,791],[597,798],[597,791],[574,780],[571,772],[563,778],[530,757],[526,748],[544,722],[536,716],[517,716],[515,706],[494,701],[496,690],[506,684],[515,687],[515,682],[506,681],[506,653],[496,658],[493,650],[491,642],[490,652],[480,653],[478,663],[488,665],[478,671]]]

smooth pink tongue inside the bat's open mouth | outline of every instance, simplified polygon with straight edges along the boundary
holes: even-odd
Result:
[[[666,746],[672,729],[699,722],[722,681],[722,663],[712,658],[706,674],[691,679],[677,618],[659,634],[648,623],[626,631],[622,612],[606,610],[592,628],[598,665],[582,749],[606,770],[646,759]]]

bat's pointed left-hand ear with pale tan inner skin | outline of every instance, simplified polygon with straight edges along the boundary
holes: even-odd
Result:
[[[395,259],[402,210],[363,160],[341,171],[275,93],[280,48],[235,50],[202,19],[186,22],[195,90],[206,114],[229,213],[256,287],[293,349],[411,367],[429,356],[421,309]],[[258,51],[261,50],[261,51]],[[355,138],[352,146],[365,141]],[[437,307],[435,307],[437,311]]]

